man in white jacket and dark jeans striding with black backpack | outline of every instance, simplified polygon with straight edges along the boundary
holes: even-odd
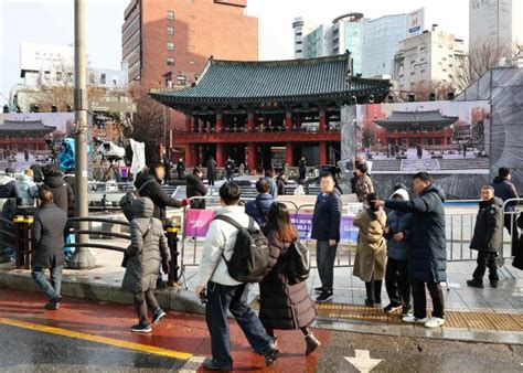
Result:
[[[271,365],[279,354],[273,338],[248,307],[247,283],[238,280],[235,276],[237,274],[233,270],[233,264],[236,264],[235,254],[242,254],[242,249],[257,249],[258,241],[265,238],[259,235],[258,225],[245,213],[244,207],[238,205],[239,199],[241,189],[236,183],[226,182],[220,188],[222,207],[216,210],[217,216],[209,226],[198,269],[195,292],[202,302],[205,302],[205,317],[211,334],[212,358],[203,362],[204,367],[209,370],[230,371],[233,367],[227,309],[236,318],[253,349],[265,356],[267,366]],[[250,237],[256,238],[254,248],[246,239],[248,238],[246,234],[250,233],[253,233]],[[244,242],[249,246],[241,246]],[[258,274],[262,274],[259,280],[268,267],[268,247],[265,262],[262,262],[263,268],[256,268]],[[248,264],[245,267],[248,267]]]

